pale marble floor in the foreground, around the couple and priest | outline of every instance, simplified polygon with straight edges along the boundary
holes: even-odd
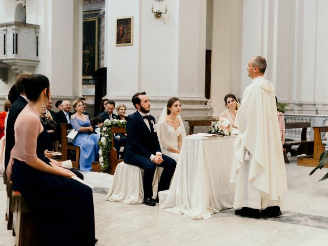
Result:
[[[97,245],[328,245],[328,180],[318,182],[328,170],[309,176],[311,170],[295,160],[286,164],[289,191],[281,197],[279,218],[238,217],[229,209],[207,220],[161,212],[158,206],[105,201],[112,176],[86,173],[95,187]],[[5,197],[0,185],[0,245],[14,245],[6,230]]]

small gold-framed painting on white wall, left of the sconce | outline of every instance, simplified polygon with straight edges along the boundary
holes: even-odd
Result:
[[[133,45],[133,16],[116,18],[116,46]]]

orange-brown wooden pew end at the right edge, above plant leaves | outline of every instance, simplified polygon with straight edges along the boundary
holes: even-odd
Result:
[[[314,130],[314,148],[313,155],[303,156],[297,158],[297,165],[316,167],[319,164],[320,155],[324,152],[324,145],[322,144],[321,133],[328,132],[328,126],[313,127]],[[325,166],[327,168],[328,165]]]

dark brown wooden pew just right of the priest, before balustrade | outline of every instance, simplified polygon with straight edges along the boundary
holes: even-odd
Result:
[[[286,149],[286,154],[291,153],[292,156],[299,154],[313,155],[313,140],[306,138],[306,131],[311,127],[311,122],[286,122],[285,129],[302,128],[301,140],[285,141],[283,148]],[[297,149],[292,149],[292,146],[299,145]]]

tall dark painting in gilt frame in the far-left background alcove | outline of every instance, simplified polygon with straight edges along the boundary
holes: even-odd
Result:
[[[83,63],[82,76],[92,78],[98,69],[98,18],[83,19]]]

